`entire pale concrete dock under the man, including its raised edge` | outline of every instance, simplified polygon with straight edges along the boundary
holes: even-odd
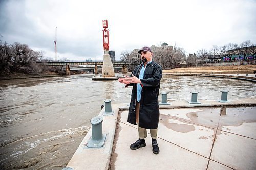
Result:
[[[88,148],[91,130],[67,167],[72,169],[256,169],[256,96],[246,99],[174,101],[160,105],[158,144],[153,154],[148,131],[146,147],[131,150],[137,125],[127,123],[127,103],[112,104],[103,117],[104,146]],[[223,111],[224,108],[224,111]]]

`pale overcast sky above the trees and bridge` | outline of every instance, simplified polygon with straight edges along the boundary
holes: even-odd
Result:
[[[163,42],[188,55],[212,45],[256,43],[255,9],[256,0],[0,0],[0,34],[54,59],[57,27],[58,58],[103,60],[102,20],[108,20],[117,60],[123,51]]]

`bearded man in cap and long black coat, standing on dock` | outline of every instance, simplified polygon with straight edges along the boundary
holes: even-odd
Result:
[[[118,79],[120,83],[126,84],[125,87],[133,86],[128,122],[134,125],[137,123],[139,139],[131,144],[130,148],[136,150],[145,147],[146,129],[150,129],[152,151],[154,154],[158,154],[158,94],[162,78],[162,67],[152,61],[153,53],[149,47],[142,47],[138,53],[143,63],[136,66],[131,76]]]

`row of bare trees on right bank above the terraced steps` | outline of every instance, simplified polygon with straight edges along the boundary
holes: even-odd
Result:
[[[254,60],[256,57],[256,44],[247,40],[239,45],[236,43],[229,43],[223,46],[212,45],[210,50],[201,49],[194,54],[189,53],[186,63],[187,65],[196,66],[197,63],[205,63],[206,61],[220,61],[223,57],[226,57],[226,61]]]

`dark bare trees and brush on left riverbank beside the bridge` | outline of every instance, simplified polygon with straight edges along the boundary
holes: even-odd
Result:
[[[59,72],[58,67],[36,64],[37,61],[44,60],[51,60],[51,58],[44,57],[44,51],[33,51],[27,44],[20,44],[18,42],[8,44],[7,42],[0,41],[0,74]]]

